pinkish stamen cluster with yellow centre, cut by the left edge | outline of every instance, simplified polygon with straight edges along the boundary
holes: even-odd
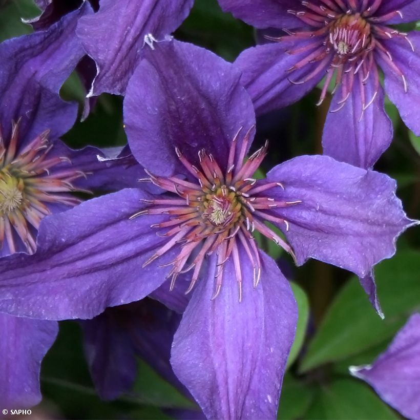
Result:
[[[12,122],[12,134],[5,144],[0,128],[0,246],[7,241],[9,252],[18,250],[17,240],[28,253],[35,251],[35,235],[43,217],[50,214],[49,204],[69,206],[80,202],[63,193],[76,191],[72,181],[85,176],[73,169],[50,170],[67,157],[49,157],[53,145],[45,131],[18,152],[19,122]],[[17,235],[17,236],[16,236]]]

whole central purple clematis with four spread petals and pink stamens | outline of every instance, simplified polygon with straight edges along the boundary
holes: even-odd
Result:
[[[33,256],[0,260],[0,309],[92,318],[181,284],[191,300],[172,347],[178,379],[207,417],[274,418],[297,308],[253,232],[299,265],[318,258],[366,277],[413,222],[393,180],[327,156],[254,179],[267,146],[245,159],[255,115],[239,78],[189,44],[149,49],[130,79],[124,120],[146,181],[164,193],[140,184],[45,218]]]

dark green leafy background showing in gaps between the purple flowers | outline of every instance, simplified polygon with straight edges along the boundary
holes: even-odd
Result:
[[[0,0],[0,41],[31,32],[21,17],[38,14],[31,0]],[[255,45],[253,28],[223,13],[216,0],[196,0],[175,37],[203,46],[228,61]],[[74,73],[61,95],[80,103],[85,97]],[[329,100],[315,106],[319,90],[286,109],[258,120],[256,150],[266,139],[269,154],[263,171],[292,157],[322,153],[321,137]],[[0,99],[1,100],[1,99]],[[394,106],[386,109],[394,124],[394,140],[375,169],[395,178],[397,195],[409,217],[420,218],[420,138],[404,125]],[[64,136],[73,148],[125,144],[122,98],[102,95],[84,122]],[[345,270],[318,261],[297,268],[280,248],[258,238],[293,282],[299,325],[285,375],[278,418],[402,418],[365,383],[348,372],[350,365],[371,363],[409,315],[420,311],[420,235],[409,229],[398,240],[397,254],[376,268],[382,321],[358,280]],[[43,402],[31,418],[175,418],[195,405],[140,358],[132,391],[112,402],[101,401],[83,354],[82,332],[74,321],[60,323],[60,332],[41,370]]]

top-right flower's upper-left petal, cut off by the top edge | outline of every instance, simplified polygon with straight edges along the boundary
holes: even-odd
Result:
[[[302,20],[287,13],[287,10],[301,8],[296,0],[219,0],[225,12],[232,13],[256,28],[296,28]]]

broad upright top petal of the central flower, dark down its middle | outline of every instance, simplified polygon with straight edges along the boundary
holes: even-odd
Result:
[[[124,100],[136,159],[158,175],[185,173],[175,146],[197,165],[204,148],[226,169],[233,137],[241,127],[245,133],[255,124],[239,77],[231,64],[203,48],[175,40],[155,44],[131,78]]]

